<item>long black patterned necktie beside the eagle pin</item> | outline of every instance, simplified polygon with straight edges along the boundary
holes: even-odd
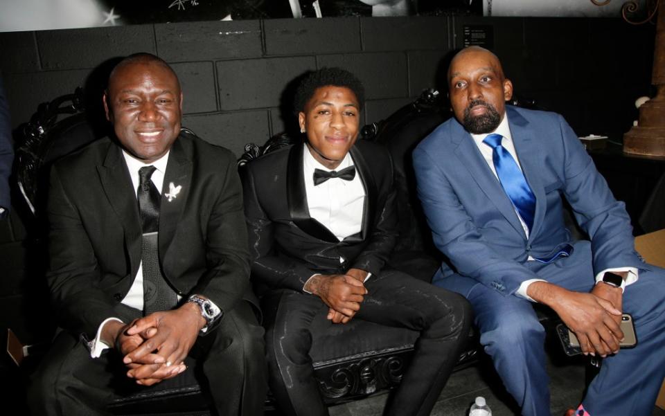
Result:
[[[177,305],[177,294],[168,285],[159,268],[159,201],[161,195],[150,180],[154,166],[139,169],[139,212],[143,238],[141,239],[141,267],[143,268],[143,312],[164,311]]]

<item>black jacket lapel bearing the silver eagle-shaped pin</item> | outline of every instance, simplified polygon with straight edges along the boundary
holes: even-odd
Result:
[[[191,152],[192,150],[185,148],[178,139],[168,154],[159,208],[159,260],[162,262],[173,242],[192,188]],[[177,187],[180,187],[179,191],[176,190]]]

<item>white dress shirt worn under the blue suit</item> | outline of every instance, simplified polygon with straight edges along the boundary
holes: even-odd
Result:
[[[499,126],[490,133],[486,134],[471,134],[471,137],[473,138],[474,143],[476,143],[476,146],[478,147],[478,150],[480,150],[480,153],[483,155],[483,158],[487,162],[488,166],[490,167],[490,170],[492,170],[494,176],[497,178],[497,181],[499,180],[499,175],[497,175],[497,170],[494,166],[494,160],[493,160],[493,154],[494,150],[492,147],[489,145],[486,145],[483,143],[485,138],[490,135],[490,134],[501,134],[504,138],[501,142],[502,147],[508,151],[508,153],[513,156],[513,159],[515,159],[515,163],[517,163],[517,167],[522,170],[522,165],[520,165],[520,159],[517,157],[517,152],[515,151],[515,145],[513,144],[513,136],[511,135],[511,128],[510,125],[508,125],[508,114],[504,113],[504,119],[501,120],[501,123],[499,123]],[[515,206],[513,206],[515,208]],[[526,226],[526,222],[524,222],[524,219],[520,217],[520,213],[517,212],[517,208],[515,208],[515,215],[517,215],[517,218],[520,219],[520,224],[522,224],[522,229],[524,230],[524,235],[526,235],[526,238],[529,238],[529,227]],[[529,256],[529,261],[535,261],[535,259],[531,256]],[[628,277],[626,278],[626,286],[628,284],[635,283],[637,281],[637,269],[634,267],[620,267],[617,269],[606,269],[601,271],[596,275],[596,283],[600,282],[603,280],[603,275],[605,274],[606,271],[628,271]],[[520,284],[520,287],[517,289],[517,295],[522,296],[522,298],[531,300],[531,302],[535,302],[529,295],[526,294],[526,290],[529,289],[529,285],[533,282],[544,282],[545,280],[543,279],[529,279],[529,280],[524,280],[522,284]]]

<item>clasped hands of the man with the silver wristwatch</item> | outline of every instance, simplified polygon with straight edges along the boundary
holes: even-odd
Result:
[[[183,360],[205,325],[197,305],[154,312],[125,325],[116,338],[123,354],[127,377],[141,386],[152,386],[183,372]]]

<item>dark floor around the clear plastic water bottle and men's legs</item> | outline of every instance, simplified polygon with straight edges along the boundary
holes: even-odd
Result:
[[[431,415],[467,416],[476,396],[485,397],[493,416],[519,415],[513,399],[508,397],[493,368],[488,366],[488,363],[481,363],[452,374]],[[550,408],[553,416],[563,416],[565,410],[578,406],[585,387],[585,367],[583,359],[551,358]],[[387,395],[378,395],[333,406],[330,416],[381,416],[386,399]],[[651,416],[665,416],[665,410],[654,407]]]

